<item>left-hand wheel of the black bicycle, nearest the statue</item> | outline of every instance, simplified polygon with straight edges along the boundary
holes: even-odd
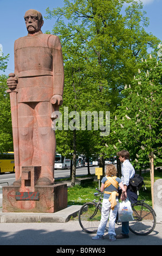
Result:
[[[94,202],[82,205],[79,211],[79,223],[87,233],[96,233],[101,220],[101,207]]]

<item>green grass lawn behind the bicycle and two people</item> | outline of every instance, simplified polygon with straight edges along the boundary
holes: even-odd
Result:
[[[142,176],[144,177],[144,182],[147,190],[143,191],[141,188],[139,191],[138,199],[139,200],[144,199],[147,204],[152,206],[150,172],[142,174]],[[162,179],[162,173],[155,170],[154,181],[158,179]],[[75,185],[74,187],[69,187],[68,188],[68,205],[83,205],[94,199],[98,201],[98,197],[94,196],[94,193],[97,192],[95,190],[96,187],[99,188],[98,181],[85,184],[84,186]]]

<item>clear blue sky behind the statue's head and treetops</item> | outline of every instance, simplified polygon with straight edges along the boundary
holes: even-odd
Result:
[[[101,0],[102,1],[102,0]],[[143,0],[146,16],[150,18],[150,26],[146,28],[147,32],[151,32],[162,41],[162,0]],[[27,35],[27,29],[24,23],[25,11],[36,9],[46,16],[46,9],[63,7],[63,0],[0,0],[0,44],[3,47],[4,55],[10,54],[8,61],[8,69],[1,74],[8,75],[14,72],[14,41],[21,36]],[[44,19],[42,32],[51,31],[55,20]]]

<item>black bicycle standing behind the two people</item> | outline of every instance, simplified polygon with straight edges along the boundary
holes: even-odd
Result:
[[[88,202],[81,206],[79,211],[79,223],[81,228],[87,233],[96,233],[101,220],[101,200],[103,192],[94,193],[94,196],[99,196],[98,202]],[[148,235],[156,225],[156,214],[152,207],[145,200],[138,200],[137,203],[131,204],[133,210],[133,221],[129,221],[129,230],[135,235]],[[116,224],[121,225],[121,222],[116,218]]]

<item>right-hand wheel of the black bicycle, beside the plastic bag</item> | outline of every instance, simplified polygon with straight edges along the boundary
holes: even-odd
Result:
[[[129,222],[129,230],[136,235],[150,234],[156,224],[156,215],[150,205],[137,203],[132,205],[134,221]]]

